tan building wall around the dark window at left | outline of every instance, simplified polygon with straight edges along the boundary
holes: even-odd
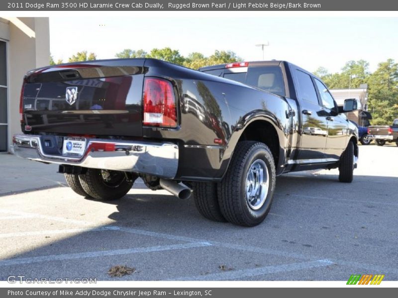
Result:
[[[20,133],[19,97],[23,75],[46,66],[50,57],[48,17],[0,18],[0,39],[7,42],[8,150]]]

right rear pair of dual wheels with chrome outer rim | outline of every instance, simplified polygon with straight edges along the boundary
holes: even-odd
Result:
[[[220,183],[193,184],[195,204],[212,221],[254,226],[270,211],[275,181],[270,149],[259,142],[240,142]]]

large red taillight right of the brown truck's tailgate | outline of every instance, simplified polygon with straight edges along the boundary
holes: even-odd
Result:
[[[143,94],[144,125],[176,127],[177,109],[170,81],[146,77]]]

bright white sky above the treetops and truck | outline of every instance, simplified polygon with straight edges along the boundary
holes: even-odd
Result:
[[[398,18],[377,17],[50,17],[50,50],[64,62],[82,50],[110,59],[126,48],[155,47],[207,56],[232,50],[253,61],[262,60],[255,45],[268,41],[265,60],[339,72],[347,61],[364,59],[374,71],[388,58],[398,61],[397,29]]]

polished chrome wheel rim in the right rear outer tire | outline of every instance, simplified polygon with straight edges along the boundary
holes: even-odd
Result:
[[[249,167],[246,174],[246,201],[253,210],[260,209],[267,198],[269,173],[264,160],[257,159]]]

